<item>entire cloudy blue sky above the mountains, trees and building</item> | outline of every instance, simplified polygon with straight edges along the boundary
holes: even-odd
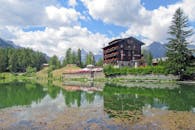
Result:
[[[94,54],[117,38],[167,43],[182,8],[195,30],[194,0],[0,0],[0,37],[49,56],[68,48]],[[195,33],[188,39],[195,44]]]

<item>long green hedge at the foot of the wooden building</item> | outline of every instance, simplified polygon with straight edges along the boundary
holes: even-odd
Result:
[[[122,67],[122,68],[114,68],[111,65],[107,65],[104,67],[104,74],[106,76],[117,76],[117,75],[146,75],[146,74],[167,74],[165,67],[163,66],[147,66],[147,67],[139,67],[139,68],[130,68],[130,67]]]

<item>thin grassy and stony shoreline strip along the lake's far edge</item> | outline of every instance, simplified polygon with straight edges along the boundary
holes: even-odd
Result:
[[[103,73],[101,74],[103,75]],[[173,75],[119,75],[115,77],[105,77],[105,76],[98,76],[94,77],[93,79],[90,77],[82,76],[82,75],[73,75],[71,74],[68,78],[64,78],[63,76],[58,77],[45,77],[45,76],[26,76],[21,75],[18,73],[17,75],[12,73],[1,73],[0,82],[12,82],[14,80],[51,80],[51,81],[79,81],[79,82],[116,82],[116,83],[182,83],[182,84],[195,84],[195,80],[184,80],[179,81],[177,76]],[[75,77],[76,76],[76,77]]]

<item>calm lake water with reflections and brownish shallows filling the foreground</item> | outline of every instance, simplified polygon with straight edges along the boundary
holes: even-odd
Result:
[[[98,87],[30,81],[0,83],[0,128],[158,129],[161,123],[148,122],[147,118],[175,113],[189,115],[186,119],[190,123],[195,117],[195,86],[164,86],[171,89],[108,83]],[[193,129],[193,123],[187,126]]]

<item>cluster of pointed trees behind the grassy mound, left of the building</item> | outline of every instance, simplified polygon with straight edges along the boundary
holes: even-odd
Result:
[[[77,51],[72,50],[71,48],[68,48],[65,52],[64,59],[62,63],[59,61],[58,57],[56,55],[52,56],[49,60],[49,66],[52,69],[58,69],[60,67],[64,67],[68,64],[75,64],[78,67],[85,67],[86,65],[92,64],[96,66],[102,66],[103,65],[103,59],[100,58],[97,62],[95,61],[94,54],[92,52],[89,52],[85,58],[85,60],[82,60],[81,56],[81,49],[78,49]]]

